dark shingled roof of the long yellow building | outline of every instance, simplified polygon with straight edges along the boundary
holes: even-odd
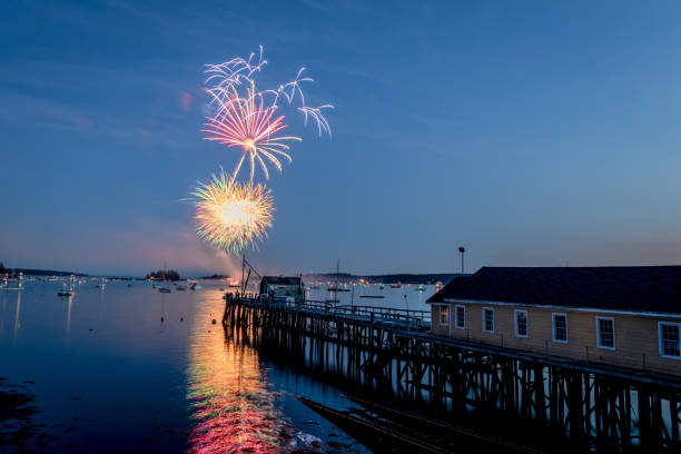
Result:
[[[452,299],[681,314],[681,266],[483,267],[427,303]]]

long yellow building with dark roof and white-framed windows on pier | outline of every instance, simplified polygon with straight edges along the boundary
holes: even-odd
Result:
[[[681,375],[681,266],[483,267],[427,303],[434,334]]]

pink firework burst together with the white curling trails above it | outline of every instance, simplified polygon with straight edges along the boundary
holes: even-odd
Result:
[[[308,77],[303,77],[305,68],[300,68],[294,80],[279,85],[275,89],[259,90],[255,82],[255,75],[260,72],[267,65],[263,59],[263,47],[259,55],[256,53],[245,59],[241,57],[233,58],[224,63],[207,65],[206,91],[210,95],[210,105],[216,112],[213,117],[207,117],[204,124],[207,132],[207,140],[217,141],[227,147],[240,147],[243,152],[233,171],[236,178],[241,170],[241,166],[248,157],[250,167],[250,182],[255,177],[255,168],[259,166],[269,179],[267,162],[282,171],[279,159],[292,162],[288,152],[289,146],[286,141],[300,141],[295,136],[276,136],[282,129],[286,128],[284,115],[275,115],[279,107],[289,106],[303,115],[304,125],[312,119],[316,126],[319,137],[328,134],[330,137],[330,126],[323,114],[324,109],[333,109],[330,105],[310,107],[306,105],[303,83],[313,82]]]

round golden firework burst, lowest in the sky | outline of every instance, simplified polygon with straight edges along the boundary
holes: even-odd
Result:
[[[220,170],[193,195],[198,236],[227,251],[257,247],[256,240],[263,240],[272,227],[274,201],[264,185],[241,185]]]

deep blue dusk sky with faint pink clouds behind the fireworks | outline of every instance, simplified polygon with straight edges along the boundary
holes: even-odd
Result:
[[[681,3],[4,1],[0,261],[229,269],[194,233],[204,65],[302,66],[333,137],[268,186],[261,272],[681,263]],[[237,263],[238,259],[233,259]]]

